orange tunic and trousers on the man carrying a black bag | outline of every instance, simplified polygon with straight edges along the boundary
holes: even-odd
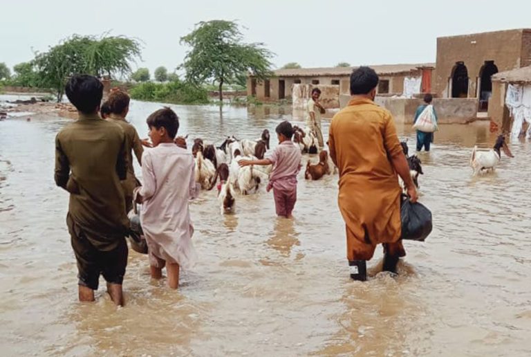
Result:
[[[369,99],[351,100],[332,119],[329,147],[339,168],[348,260],[371,259],[377,244],[404,256],[401,190],[390,161],[402,147],[391,113]]]

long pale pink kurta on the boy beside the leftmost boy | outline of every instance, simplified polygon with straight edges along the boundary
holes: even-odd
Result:
[[[142,155],[140,222],[152,266],[160,267],[160,259],[185,269],[196,262],[188,209],[189,199],[197,196],[194,166],[192,154],[173,143],[161,143]]]

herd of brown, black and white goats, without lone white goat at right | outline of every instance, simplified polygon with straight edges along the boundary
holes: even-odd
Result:
[[[303,154],[317,154],[317,138],[309,129],[294,127],[293,143]],[[420,158],[409,156],[406,142],[402,149],[409,163],[411,178],[418,187],[418,176],[423,174]],[[193,140],[192,154],[196,161],[195,180],[203,190],[218,189],[218,203],[221,213],[234,212],[236,194],[257,192],[261,183],[268,180],[272,165],[250,165],[240,167],[241,160],[257,160],[265,157],[270,149],[270,133],[264,129],[256,140],[227,137],[219,146],[207,143],[202,138]],[[337,174],[338,170],[326,150],[319,152],[319,162],[312,163],[308,158],[304,177],[319,180],[325,175]],[[400,180],[399,180],[400,181]]]

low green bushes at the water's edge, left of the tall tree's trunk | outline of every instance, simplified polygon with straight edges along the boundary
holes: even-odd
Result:
[[[145,82],[134,86],[129,94],[136,100],[175,104],[207,104],[206,89],[180,80],[167,83]]]

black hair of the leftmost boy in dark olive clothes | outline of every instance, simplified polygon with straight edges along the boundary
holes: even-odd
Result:
[[[84,114],[92,114],[100,107],[103,84],[93,75],[73,75],[64,89],[73,106]]]

